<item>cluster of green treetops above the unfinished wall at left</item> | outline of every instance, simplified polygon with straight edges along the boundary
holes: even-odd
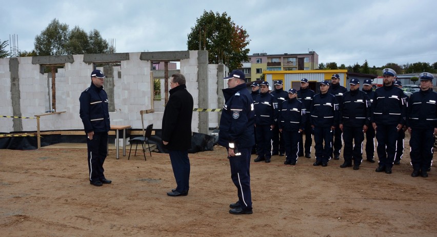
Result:
[[[70,31],[67,24],[59,23],[56,18],[35,37],[34,46],[39,56],[115,52],[114,48],[108,47],[108,42],[98,30],[94,29],[87,34],[75,26]]]

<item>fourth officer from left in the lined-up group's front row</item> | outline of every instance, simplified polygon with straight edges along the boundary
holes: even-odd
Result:
[[[369,97],[360,91],[360,81],[352,78],[349,82],[350,91],[343,94],[340,104],[340,129],[345,143],[343,150],[344,163],[341,168],[351,167],[360,169],[363,160],[364,133],[370,126]]]

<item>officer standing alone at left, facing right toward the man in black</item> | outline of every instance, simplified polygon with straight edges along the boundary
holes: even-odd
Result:
[[[108,154],[108,131],[111,128],[108,95],[103,89],[105,77],[100,70],[92,71],[91,86],[79,97],[79,114],[87,134],[89,179],[94,186],[111,183],[103,173],[103,163]]]

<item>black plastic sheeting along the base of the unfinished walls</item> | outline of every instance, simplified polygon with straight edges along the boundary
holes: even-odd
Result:
[[[156,150],[160,153],[168,153],[168,150],[164,148],[161,142],[161,129],[155,129],[155,135],[150,137],[150,144],[156,144]],[[23,133],[23,132],[20,132]],[[13,134],[13,133],[2,133]],[[126,137],[127,140],[136,137]],[[57,143],[86,143],[86,135],[44,135],[41,137],[41,147],[57,144]],[[115,142],[115,135],[109,136],[109,143]],[[217,142],[216,136],[210,136],[203,133],[193,132],[191,137],[191,149],[188,153],[196,153],[200,151],[212,151],[215,143]],[[128,145],[129,146],[129,145]],[[147,146],[147,144],[146,144]],[[0,149],[11,150],[35,150],[37,149],[36,136],[13,136],[13,137],[1,137]]]

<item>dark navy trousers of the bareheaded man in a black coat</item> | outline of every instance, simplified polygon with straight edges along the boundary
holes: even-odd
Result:
[[[169,150],[171,167],[173,168],[174,179],[176,180],[176,191],[186,192],[190,189],[190,160],[188,150]]]

